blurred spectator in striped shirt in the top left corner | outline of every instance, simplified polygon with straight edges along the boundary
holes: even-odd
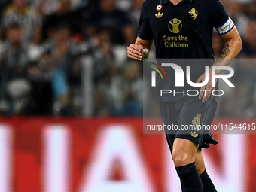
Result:
[[[23,40],[32,44],[41,42],[41,17],[26,5],[26,0],[14,0],[5,9],[2,18],[2,28],[7,29],[12,23],[17,22],[23,29]]]

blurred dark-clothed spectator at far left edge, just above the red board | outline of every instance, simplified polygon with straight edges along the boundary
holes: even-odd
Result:
[[[6,40],[0,44],[0,102],[6,104],[7,113],[18,114],[24,105],[24,100],[18,99],[30,90],[26,81],[28,48],[22,41],[22,32],[18,23],[10,23],[6,29]]]

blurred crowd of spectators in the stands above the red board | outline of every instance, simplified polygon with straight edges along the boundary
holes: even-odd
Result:
[[[142,116],[142,63],[126,47],[143,2],[0,0],[0,114],[84,115],[89,82],[91,116]],[[256,1],[222,2],[242,36],[239,58],[256,59]],[[218,57],[224,41],[216,33],[212,40]],[[237,86],[223,87],[218,115],[256,117],[256,66],[231,65]]]

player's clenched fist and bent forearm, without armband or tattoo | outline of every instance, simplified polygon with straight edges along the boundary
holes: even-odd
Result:
[[[135,59],[138,61],[147,59],[151,51],[152,44],[153,40],[148,41],[138,37],[134,44],[130,44],[129,47],[127,47],[127,56],[130,59]]]

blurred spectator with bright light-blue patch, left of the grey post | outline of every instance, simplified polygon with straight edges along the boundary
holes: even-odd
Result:
[[[53,29],[48,40],[38,47],[38,52],[46,69],[51,72],[54,114],[72,115],[70,86],[81,83],[81,56],[90,52],[90,42],[76,43],[69,25],[59,23]]]

